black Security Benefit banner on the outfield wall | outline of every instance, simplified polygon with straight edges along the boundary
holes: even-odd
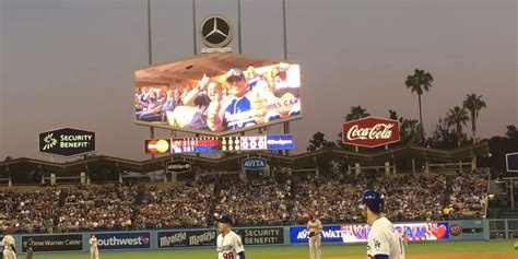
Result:
[[[282,227],[246,227],[234,228],[234,232],[242,237],[245,246],[284,244],[284,229]]]

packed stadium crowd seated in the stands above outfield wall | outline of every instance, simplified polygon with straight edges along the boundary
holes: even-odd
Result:
[[[362,190],[373,187],[385,193],[386,213],[393,221],[443,220],[448,205],[450,217],[483,216],[487,191],[483,174],[460,173],[447,183],[444,174],[330,173],[275,174],[248,180],[202,177],[174,186],[3,190],[0,204],[5,210],[0,213],[0,224],[23,232],[55,228],[54,222],[60,232],[167,228],[208,226],[213,213],[228,213],[238,225],[275,225],[304,223],[309,212],[323,223],[363,222],[357,202]]]

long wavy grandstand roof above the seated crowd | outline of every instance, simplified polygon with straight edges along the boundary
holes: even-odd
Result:
[[[487,142],[481,142],[473,145],[461,146],[455,150],[439,150],[422,146],[397,146],[388,150],[354,152],[339,149],[322,149],[314,152],[307,152],[297,155],[280,155],[268,152],[247,152],[238,154],[226,154],[224,157],[210,158],[196,155],[174,154],[145,161],[131,161],[113,156],[94,155],[84,160],[78,160],[67,163],[52,163],[43,160],[33,158],[15,158],[0,163],[0,174],[5,175],[8,172],[28,172],[32,169],[43,169],[46,173],[55,173],[57,175],[76,175],[80,172],[86,172],[101,167],[114,167],[120,170],[129,170],[137,173],[148,173],[164,169],[165,163],[172,160],[187,160],[192,162],[195,166],[238,170],[240,168],[239,161],[247,156],[266,157],[270,165],[276,167],[308,168],[315,167],[317,161],[328,160],[349,160],[351,163],[361,163],[364,165],[380,165],[385,161],[392,158],[428,158],[436,162],[458,162],[459,160],[468,160],[472,156],[485,156],[488,153]]]

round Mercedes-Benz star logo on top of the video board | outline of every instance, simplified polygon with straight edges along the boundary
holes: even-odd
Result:
[[[207,17],[201,23],[201,39],[208,47],[225,47],[232,39],[231,23],[225,17],[219,15]]]

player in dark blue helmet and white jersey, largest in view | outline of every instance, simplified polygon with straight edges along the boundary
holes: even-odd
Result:
[[[382,215],[385,197],[377,190],[362,196],[363,215],[370,225],[367,237],[367,256],[372,259],[404,259],[402,239],[392,223]]]

